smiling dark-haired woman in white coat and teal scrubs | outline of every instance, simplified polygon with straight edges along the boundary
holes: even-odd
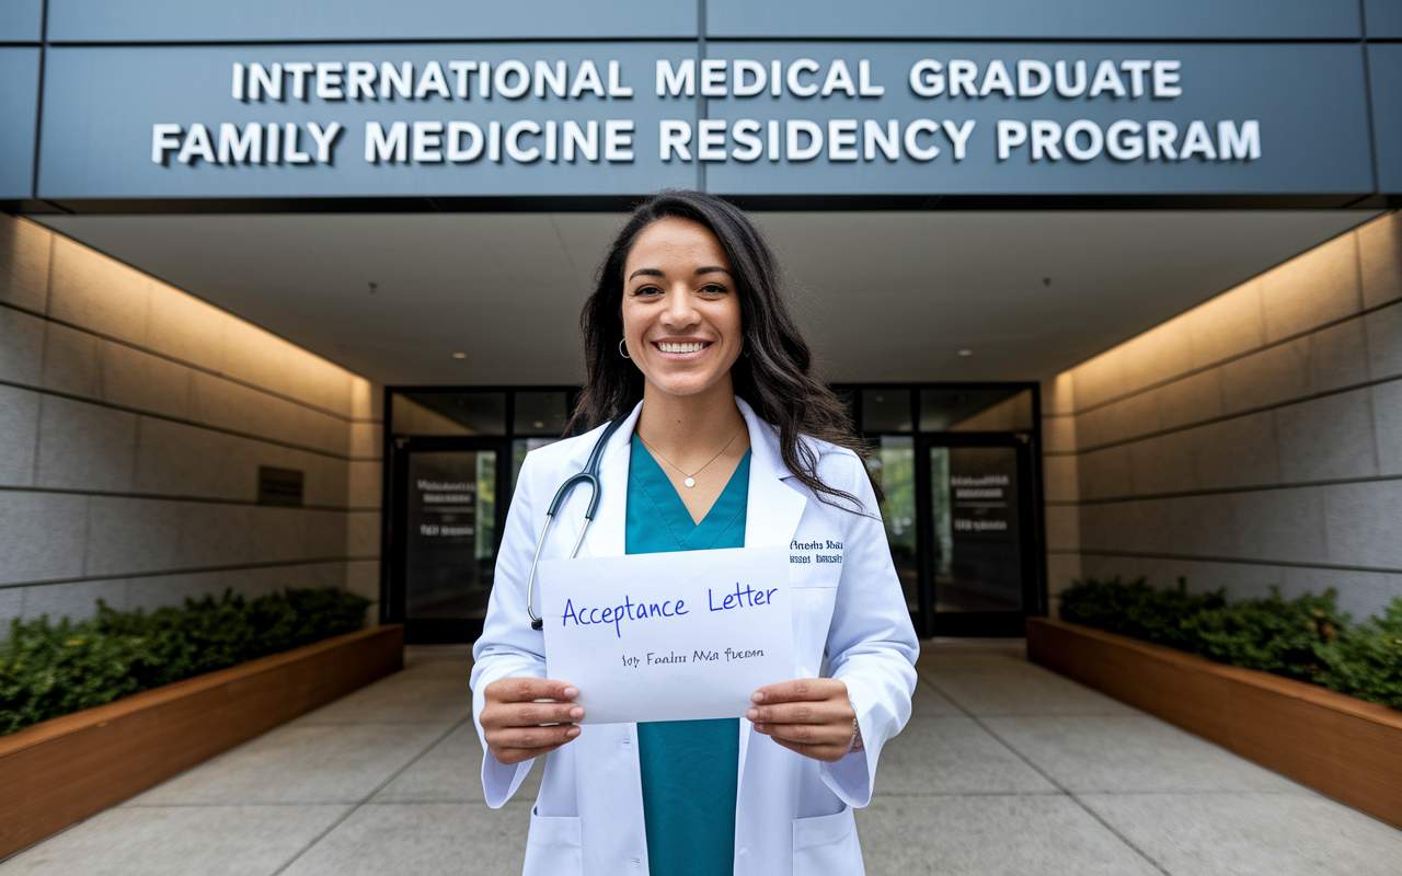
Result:
[[[910,716],[917,642],[861,440],[813,376],[781,286],[747,214],[663,192],[634,210],[585,304],[572,426],[593,432],[526,457],[474,648],[488,805],[551,753],[529,875],[862,872],[852,807],[871,800],[882,744]],[[578,726],[578,690],[544,678],[527,615],[537,535],[558,485],[620,418],[580,554],[791,551],[799,680],[761,687],[746,719]],[[587,492],[561,507],[541,558],[568,556]],[[815,542],[841,561],[815,562]]]

